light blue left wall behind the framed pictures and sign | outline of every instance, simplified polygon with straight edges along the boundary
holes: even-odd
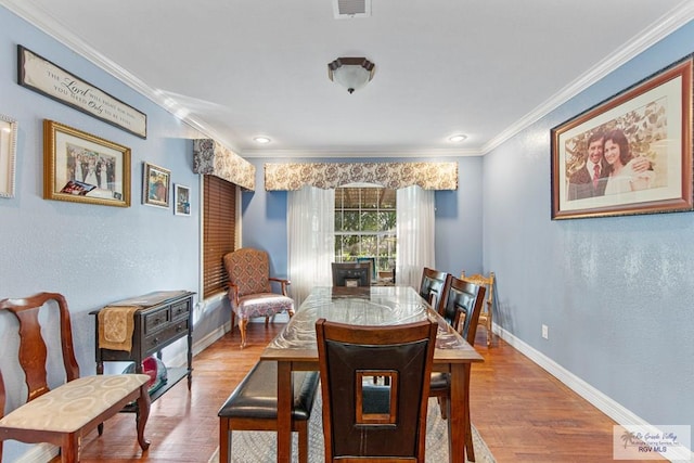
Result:
[[[16,46],[23,44],[72,74],[147,115],[143,140],[16,83]],[[198,133],[102,69],[0,8],[0,113],[18,123],[16,192],[0,198],[0,298],[59,292],[70,306],[81,373],[95,371],[94,320],[90,310],[159,290],[198,292],[200,187],[192,171],[192,139]],[[42,198],[43,119],[52,119],[132,150],[129,208]],[[191,188],[192,215],[141,204],[142,163],[171,171],[172,183]],[[196,318],[203,318],[196,311]],[[227,314],[228,319],[228,314]],[[10,407],[20,400],[20,378],[7,360],[16,358],[5,318],[0,318],[0,369]],[[197,324],[205,324],[198,320]],[[216,321],[215,325],[220,322]],[[205,334],[205,330],[195,333]],[[165,352],[180,356],[184,340]],[[14,352],[14,353],[13,353]],[[116,365],[111,365],[113,370]],[[121,369],[121,365],[118,365]],[[4,461],[26,446],[9,441]]]

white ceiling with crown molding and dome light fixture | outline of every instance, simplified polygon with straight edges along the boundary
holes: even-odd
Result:
[[[694,0],[372,0],[347,20],[331,0],[0,4],[246,157],[484,154],[694,18]],[[329,80],[340,56],[373,80]]]

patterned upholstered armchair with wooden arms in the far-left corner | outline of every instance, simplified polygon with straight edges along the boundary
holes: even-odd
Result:
[[[294,316],[294,299],[287,295],[290,281],[270,276],[270,258],[261,249],[242,247],[224,256],[224,268],[229,275],[229,300],[231,303],[231,329],[239,317],[241,347],[246,346],[248,320],[265,317],[268,326],[270,317],[286,311]],[[281,294],[274,293],[272,284],[279,285]]]

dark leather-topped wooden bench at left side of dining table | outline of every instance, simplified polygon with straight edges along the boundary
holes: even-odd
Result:
[[[294,375],[292,430],[299,435],[299,462],[308,463],[308,421],[311,416],[320,374],[317,371],[292,374]],[[231,393],[218,414],[220,463],[230,461],[232,430],[277,430],[278,363],[257,362]]]

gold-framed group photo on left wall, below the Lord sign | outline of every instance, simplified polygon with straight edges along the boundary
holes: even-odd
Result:
[[[130,207],[130,149],[43,120],[43,198]]]

